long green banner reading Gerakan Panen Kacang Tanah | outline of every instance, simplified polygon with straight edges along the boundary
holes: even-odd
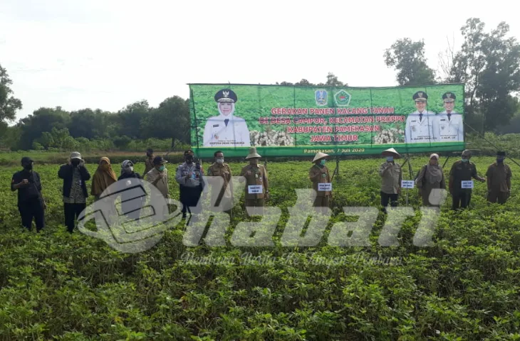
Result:
[[[246,156],[464,150],[464,85],[299,87],[192,84],[192,148]]]

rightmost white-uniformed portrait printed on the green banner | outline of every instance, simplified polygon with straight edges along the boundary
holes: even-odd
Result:
[[[435,117],[433,131],[438,136],[437,142],[464,141],[464,121],[462,115],[454,112],[455,94],[446,92],[442,95],[444,112]]]

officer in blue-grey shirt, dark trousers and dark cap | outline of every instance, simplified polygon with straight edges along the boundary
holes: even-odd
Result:
[[[190,207],[197,207],[202,190],[204,190],[204,170],[198,162],[193,161],[193,151],[191,149],[184,151],[184,163],[177,167],[175,174],[175,180],[179,184],[183,218],[186,217],[187,212],[192,215]]]

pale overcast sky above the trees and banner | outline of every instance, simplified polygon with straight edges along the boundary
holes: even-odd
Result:
[[[511,7],[512,6],[512,7]],[[516,8],[515,8],[516,7]],[[437,69],[467,18],[520,37],[516,1],[0,0],[0,64],[24,105],[117,111],[157,106],[187,83],[325,82],[396,85],[383,53],[425,40]]]

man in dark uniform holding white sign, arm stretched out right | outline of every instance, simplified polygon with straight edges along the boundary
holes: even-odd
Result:
[[[449,171],[449,194],[452,195],[452,210],[466,208],[472,200],[473,180],[484,183],[486,179],[477,175],[477,166],[469,162],[472,153],[469,150],[462,152],[462,158],[453,163]]]

